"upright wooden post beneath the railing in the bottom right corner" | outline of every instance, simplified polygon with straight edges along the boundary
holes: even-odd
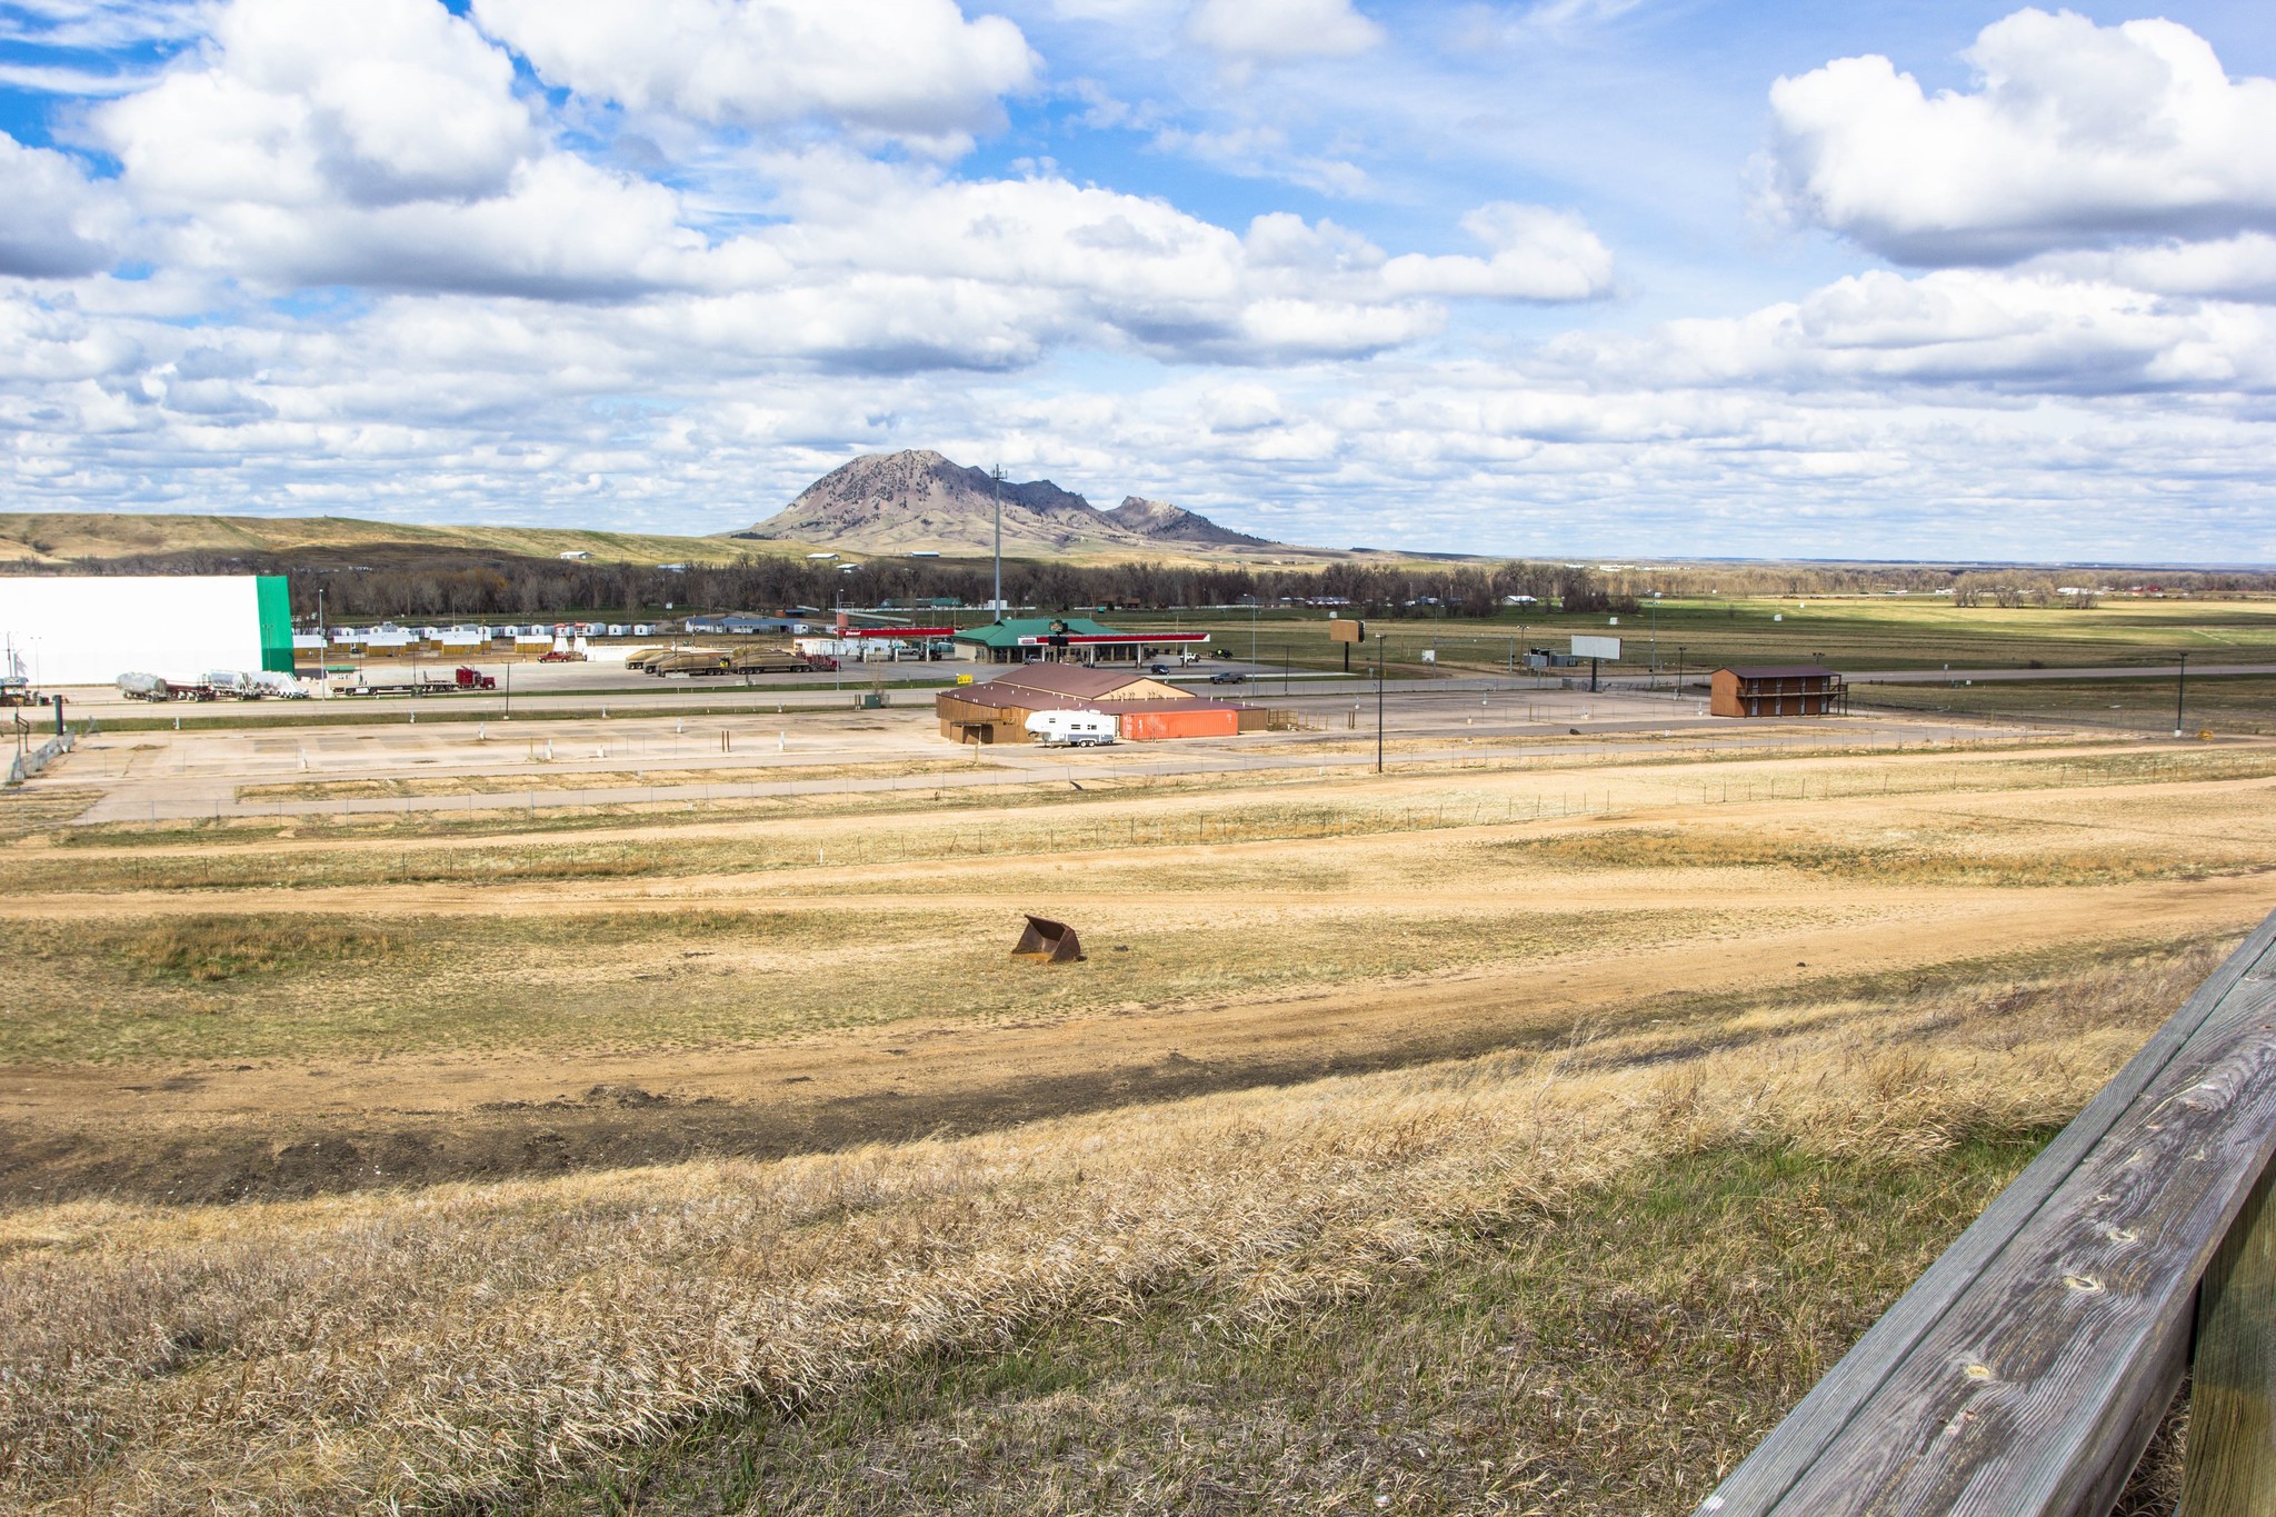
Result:
[[[2176,1517],[2276,1512],[2276,1210],[2262,1171],[2196,1290]]]

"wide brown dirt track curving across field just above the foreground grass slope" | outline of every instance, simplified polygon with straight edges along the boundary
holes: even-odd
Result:
[[[1691,882],[1673,894],[1698,889]],[[1627,892],[1591,905],[1614,894]],[[1844,894],[1853,892],[1814,889],[1809,898],[1825,905]],[[1787,896],[1755,892],[1753,901],[1773,917],[1803,901]],[[1832,912],[1832,921],[1784,930],[1673,937],[1618,953],[1575,944],[1523,969],[1056,1023],[915,1019],[774,1046],[646,1055],[0,1069],[0,1203],[84,1194],[225,1201],[890,1142],[1495,1048],[1555,1048],[1591,1026],[1680,1021],[1698,1014],[1702,998],[1812,987],[1839,996],[1859,976],[2242,932],[2271,905],[2276,885],[2265,876],[1882,889],[1871,912]],[[1718,1037],[1727,1039],[1727,1028]]]

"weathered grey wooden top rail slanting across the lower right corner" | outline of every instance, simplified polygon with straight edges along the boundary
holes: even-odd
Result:
[[[2276,1512],[2276,917],[1723,1485],[1714,1517],[2105,1517],[2185,1369],[2185,1517]]]

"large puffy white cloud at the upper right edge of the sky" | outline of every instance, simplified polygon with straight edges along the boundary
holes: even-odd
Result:
[[[2171,20],[2026,9],[1928,96],[1887,57],[1771,86],[1782,209],[1907,264],[2276,227],[2276,80]]]

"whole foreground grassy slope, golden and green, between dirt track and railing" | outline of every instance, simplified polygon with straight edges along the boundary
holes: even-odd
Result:
[[[2210,967],[765,1164],[23,1208],[0,1503],[1677,1512]]]

